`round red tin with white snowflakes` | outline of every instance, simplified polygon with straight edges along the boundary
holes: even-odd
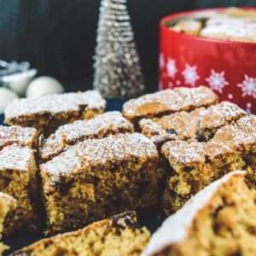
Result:
[[[204,84],[220,101],[256,113],[256,43],[201,38],[165,26],[169,20],[216,10],[183,12],[160,21],[160,90]]]

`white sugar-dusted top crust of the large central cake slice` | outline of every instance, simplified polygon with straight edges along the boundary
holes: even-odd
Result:
[[[151,157],[158,158],[154,143],[142,134],[125,133],[78,143],[42,164],[40,170],[55,183],[61,176],[71,175],[82,167],[98,166],[104,172],[104,166],[112,168],[121,161],[147,161]]]

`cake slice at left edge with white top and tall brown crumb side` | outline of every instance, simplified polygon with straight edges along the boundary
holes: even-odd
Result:
[[[4,233],[38,229],[37,166],[31,148],[10,145],[0,151],[0,191],[17,200],[15,211],[5,221]]]

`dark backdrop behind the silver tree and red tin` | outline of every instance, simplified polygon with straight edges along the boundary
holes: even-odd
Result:
[[[91,87],[99,0],[0,0],[0,58],[29,61],[66,90]],[[158,27],[182,10],[256,6],[256,1],[128,0],[149,90],[157,88]]]

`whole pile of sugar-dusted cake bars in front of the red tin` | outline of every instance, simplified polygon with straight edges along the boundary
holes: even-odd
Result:
[[[214,208],[214,230],[216,211],[230,205],[251,211],[252,224],[243,224],[239,236],[256,244],[256,116],[231,102],[218,103],[204,86],[141,96],[125,102],[123,113],[103,113],[105,107],[93,90],[9,104],[5,121],[11,126],[0,126],[0,191],[15,198],[15,207],[6,213],[4,235],[73,231],[15,255],[45,250],[45,255],[110,255],[109,247],[112,255],[140,255],[150,235],[132,211],[157,208],[166,216],[177,213],[167,218],[144,255],[189,255],[189,250],[190,255],[213,255],[217,249],[208,243],[215,242],[215,233],[221,235],[205,236],[206,245],[200,241],[204,231],[194,222],[200,211],[210,218]],[[223,191],[225,186],[231,188]],[[229,198],[230,191],[237,198]],[[248,206],[241,203],[244,198]],[[232,221],[238,225],[244,218],[236,215]],[[176,234],[184,226],[187,230]],[[161,229],[164,235],[158,235]],[[236,228],[224,224],[224,229],[222,254],[214,255],[256,254],[256,247],[240,246]],[[228,238],[234,243],[230,251]]]

